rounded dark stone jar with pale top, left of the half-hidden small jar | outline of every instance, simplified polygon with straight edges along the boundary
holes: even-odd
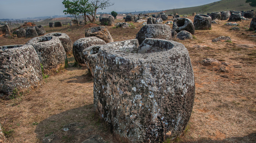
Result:
[[[102,39],[99,39],[97,37],[86,37],[86,38],[80,38],[76,40],[73,44],[73,55],[75,57],[76,62],[82,66],[86,66],[86,59],[83,56],[83,50],[87,47],[93,46],[93,45],[100,45],[100,44],[106,44],[106,42]]]

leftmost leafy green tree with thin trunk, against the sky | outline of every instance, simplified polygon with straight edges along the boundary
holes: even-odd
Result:
[[[66,10],[63,10],[64,14],[70,14],[75,16],[77,25],[78,25],[78,21],[76,16],[79,15],[79,4],[78,4],[79,0],[63,0],[62,4],[64,5],[65,8],[67,8]]]

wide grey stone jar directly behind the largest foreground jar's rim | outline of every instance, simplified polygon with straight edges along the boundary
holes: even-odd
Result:
[[[139,44],[141,44],[146,38],[172,40],[171,27],[162,24],[144,25],[137,33],[136,39],[138,39]]]

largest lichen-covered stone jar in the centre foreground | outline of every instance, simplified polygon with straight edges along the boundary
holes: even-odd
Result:
[[[168,135],[180,135],[195,95],[187,49],[162,39],[145,39],[139,48],[121,43],[99,49],[94,80],[96,114],[123,142],[159,142]]]

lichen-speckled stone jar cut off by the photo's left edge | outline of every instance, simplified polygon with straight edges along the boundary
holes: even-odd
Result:
[[[32,45],[0,46],[0,98],[40,85],[42,71]],[[16,88],[16,89],[15,89]]]

